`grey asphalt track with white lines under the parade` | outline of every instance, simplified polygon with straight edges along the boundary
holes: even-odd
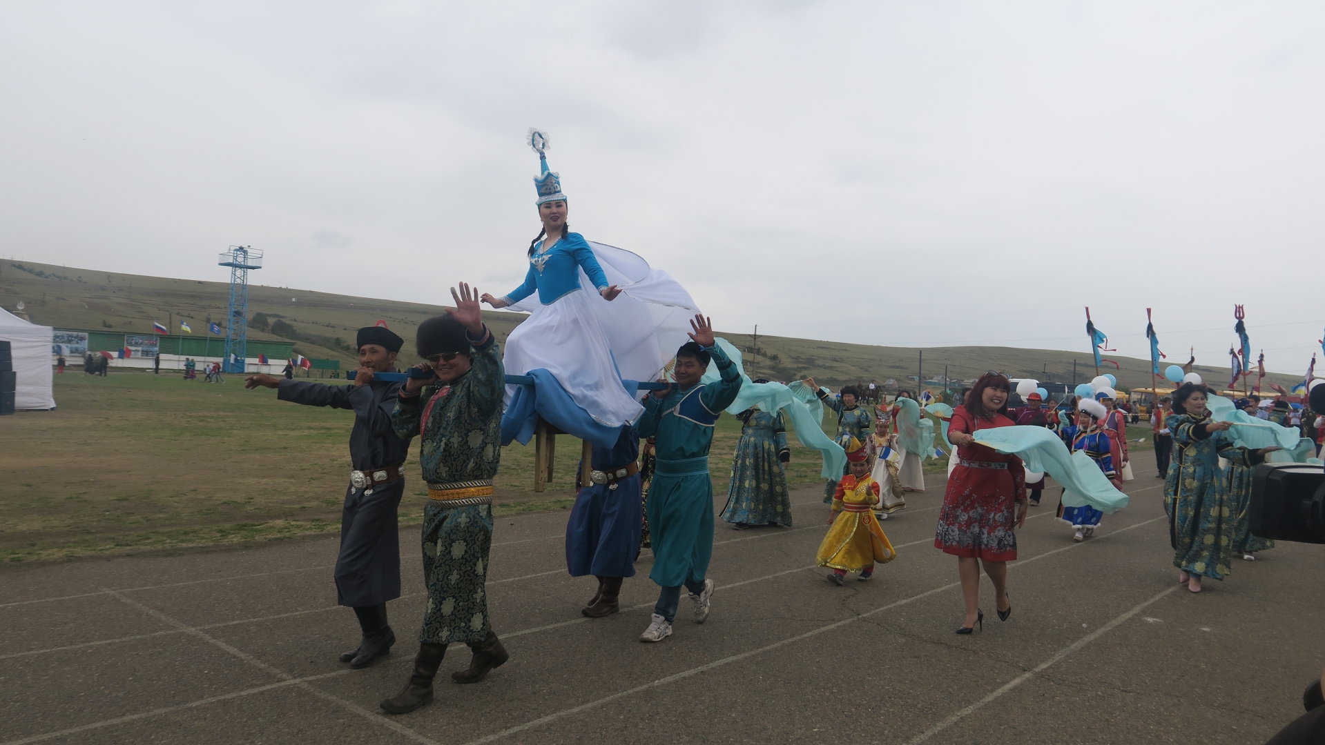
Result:
[[[1143,446],[1141,446],[1143,447]],[[350,671],[335,540],[0,572],[0,744],[20,742],[1208,742],[1259,744],[1301,713],[1325,664],[1325,552],[1280,544],[1199,595],[1177,584],[1162,480],[1138,450],[1126,509],[1073,543],[1057,487],[1018,533],[1012,615],[982,586],[958,636],[957,561],[933,548],[942,479],[884,523],[898,558],[839,588],[814,566],[822,491],[795,527],[725,529],[708,622],[639,634],[657,588],[644,552],[621,613],[586,619],[566,512],[500,519],[489,607],[510,662],[477,685],[453,646],[433,704],[379,712],[409,674],[425,599],[401,535],[400,639]],[[718,499],[721,507],[721,498]]]

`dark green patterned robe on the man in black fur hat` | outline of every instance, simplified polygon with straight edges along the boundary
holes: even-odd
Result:
[[[396,434],[419,434],[419,462],[429,488],[460,482],[492,486],[501,460],[501,413],[505,373],[492,333],[470,347],[473,367],[448,386],[429,385],[416,398],[401,398],[391,414]],[[436,401],[433,401],[436,398]],[[492,500],[468,507],[439,507],[428,500],[423,515],[423,573],[428,588],[419,640],[432,644],[482,642],[488,636],[488,550],[493,537]]]

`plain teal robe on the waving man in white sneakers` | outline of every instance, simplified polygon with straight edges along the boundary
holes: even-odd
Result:
[[[641,438],[656,438],[657,470],[649,484],[647,507],[653,570],[649,578],[664,588],[698,582],[713,556],[713,479],[708,460],[713,423],[741,390],[741,372],[719,347],[710,347],[718,380],[686,389],[673,386],[665,398],[644,400],[636,422]],[[669,472],[670,471],[670,472]]]

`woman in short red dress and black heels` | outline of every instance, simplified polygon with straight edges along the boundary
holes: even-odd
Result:
[[[994,582],[999,621],[1012,615],[1007,599],[1007,562],[1016,558],[1016,533],[1026,521],[1026,470],[1016,455],[1000,455],[971,437],[977,430],[1015,425],[1007,414],[1010,382],[1002,373],[980,376],[966,402],[953,412],[947,439],[957,446],[958,464],[947,478],[938,512],[934,548],[957,556],[962,578],[966,622],[958,634],[970,634],[984,613],[979,609],[980,562]]]

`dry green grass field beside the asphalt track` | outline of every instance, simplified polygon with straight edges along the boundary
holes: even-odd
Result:
[[[0,421],[7,515],[0,557],[65,558],[339,531],[354,414],[277,401],[274,390],[245,390],[238,376],[225,380],[56,376],[57,410]],[[739,422],[723,414],[713,445],[719,500],[739,431]],[[401,524],[419,523],[427,499],[416,451]],[[533,446],[506,447],[497,513],[568,509],[579,451],[578,439],[559,437],[553,482],[535,494]],[[822,483],[819,470],[819,454],[792,438],[791,486]]]

